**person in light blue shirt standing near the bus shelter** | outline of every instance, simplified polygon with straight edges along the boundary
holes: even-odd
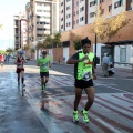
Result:
[[[104,76],[109,75],[109,73],[108,73],[109,65],[110,65],[110,59],[109,59],[108,54],[104,53],[104,57],[102,59],[102,70],[103,70]]]

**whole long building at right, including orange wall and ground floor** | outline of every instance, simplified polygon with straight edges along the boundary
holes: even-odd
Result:
[[[111,42],[114,42],[113,44],[110,43],[110,45],[112,45],[113,49],[112,62],[115,62],[115,66],[125,66],[125,64],[129,65],[133,63],[133,0],[61,0],[60,31],[62,33],[62,42],[70,42],[70,45],[65,48],[69,49],[69,57],[75,52],[73,43],[70,40],[70,32],[79,34],[81,38],[89,37],[92,40],[92,51],[94,52],[95,34],[91,33],[89,29],[95,20],[98,8],[100,8],[104,18],[115,17],[122,11],[127,12],[127,18],[131,21],[110,40]],[[119,43],[116,44],[115,42]],[[104,41],[98,39],[96,55],[100,58],[100,64],[102,64],[102,51],[105,50],[104,47]],[[106,49],[106,51],[112,50]],[[64,53],[62,53],[62,57],[63,54]],[[124,59],[122,60],[121,57],[124,57]],[[54,58],[54,60],[58,60],[58,57]]]

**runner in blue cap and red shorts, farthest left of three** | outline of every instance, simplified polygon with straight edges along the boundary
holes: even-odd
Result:
[[[18,73],[18,85],[20,85],[20,75],[21,75],[21,82],[22,86],[24,88],[24,63],[27,63],[27,60],[23,58],[23,51],[18,52],[18,57],[16,58],[14,64],[17,64],[17,73]]]

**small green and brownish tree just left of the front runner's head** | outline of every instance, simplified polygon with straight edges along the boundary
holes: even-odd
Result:
[[[73,33],[70,31],[70,41],[73,42],[73,47],[75,50],[80,50],[82,44],[81,44],[81,37],[76,33]]]

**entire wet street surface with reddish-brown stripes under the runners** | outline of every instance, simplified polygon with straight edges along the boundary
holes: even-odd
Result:
[[[98,75],[98,80],[94,80],[95,102],[89,113],[90,123],[84,124],[82,115],[80,115],[80,123],[74,124],[72,121],[73,65],[52,64],[47,90],[41,93],[39,68],[35,65],[35,61],[29,61],[25,64],[25,96],[21,99],[21,91],[17,89],[16,65],[13,60],[10,60],[10,63],[0,68],[0,105],[3,106],[0,110],[2,120],[0,130],[7,131],[7,133],[8,131],[18,133],[20,130],[22,133],[133,132],[133,75],[131,70],[116,69],[116,74],[111,78],[103,78],[101,66],[98,66],[95,71]],[[9,79],[8,82],[6,79]],[[11,91],[10,95],[9,90]],[[3,101],[7,101],[6,104]],[[83,92],[79,105],[80,114],[85,102],[86,95]],[[4,110],[9,108],[12,110]],[[21,108],[27,113],[20,113]],[[44,110],[40,110],[42,108]],[[7,114],[13,115],[8,116]],[[18,121],[18,117],[23,119]],[[10,126],[4,129],[8,125]]]

